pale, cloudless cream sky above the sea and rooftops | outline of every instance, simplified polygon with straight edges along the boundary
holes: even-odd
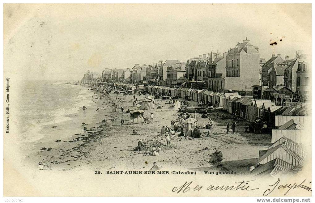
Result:
[[[311,55],[312,4],[4,4],[4,73],[77,81],[233,48],[247,37],[260,57]],[[282,39],[282,41],[280,41]],[[270,45],[277,42],[277,45]]]

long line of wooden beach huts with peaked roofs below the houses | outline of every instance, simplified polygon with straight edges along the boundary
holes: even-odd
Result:
[[[271,100],[257,100],[242,97],[238,93],[219,93],[206,89],[174,88],[163,86],[145,87],[149,93],[165,93],[171,96],[190,97],[196,102],[218,101],[220,107],[232,115],[251,123],[263,121],[272,128],[271,145],[258,152],[257,164],[249,168],[252,176],[270,175],[276,177],[296,166],[302,166],[306,159],[307,131],[305,125],[311,119],[311,109],[279,106]],[[309,134],[309,133],[308,133]]]

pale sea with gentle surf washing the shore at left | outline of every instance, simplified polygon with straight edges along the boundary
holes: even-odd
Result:
[[[39,140],[53,140],[57,135],[72,136],[82,133],[81,127],[72,125],[69,115],[79,114],[82,107],[93,104],[89,87],[56,81],[25,81],[21,87],[19,105],[19,137],[25,144],[26,155]],[[61,125],[62,123],[62,125]],[[59,126],[52,128],[51,125]],[[62,126],[62,127],[60,127]],[[70,130],[71,129],[71,130]]]

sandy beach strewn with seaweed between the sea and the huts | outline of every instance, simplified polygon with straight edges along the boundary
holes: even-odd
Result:
[[[93,93],[92,93],[93,94]],[[116,100],[116,96],[120,99]],[[136,95],[138,100],[143,100],[147,95]],[[72,137],[54,135],[50,141],[37,144],[38,152],[26,157],[28,163],[37,168],[39,162],[43,163],[44,170],[149,170],[153,162],[162,166],[163,170],[229,170],[237,174],[248,174],[249,166],[256,164],[258,150],[266,149],[270,145],[271,135],[244,133],[246,121],[238,121],[236,133],[226,134],[226,123],[232,123],[232,119],[215,119],[216,112],[221,115],[228,113],[224,110],[213,110],[208,117],[215,119],[210,137],[188,138],[175,137],[172,139],[172,148],[166,147],[166,140],[160,131],[162,126],[171,125],[171,120],[176,120],[178,113],[169,110],[167,100],[156,99],[156,104],[161,104],[162,109],[145,110],[144,117],[154,115],[152,123],[120,125],[121,110],[135,110],[133,95],[112,93],[105,95],[100,101],[95,101],[86,110],[86,113],[69,115],[73,118],[58,124],[58,127],[72,123],[77,132]],[[118,105],[117,112],[114,104]],[[197,105],[195,102],[190,102]],[[96,111],[96,106],[100,107]],[[198,124],[208,122],[208,118],[201,118],[197,114]],[[130,114],[124,114],[125,124]],[[74,125],[73,123],[77,124]],[[88,124],[88,132],[83,134],[81,123]],[[139,135],[132,135],[133,130]],[[79,133],[81,131],[81,133]],[[201,132],[207,132],[201,129]],[[69,132],[71,133],[71,132]],[[59,142],[56,142],[57,140]],[[159,151],[159,155],[146,155],[146,151],[133,151],[138,141],[156,140],[165,145],[165,149]],[[45,147],[46,150],[41,150]],[[50,150],[47,150],[52,148]],[[220,167],[209,163],[210,156],[216,150],[221,151],[223,160]]]

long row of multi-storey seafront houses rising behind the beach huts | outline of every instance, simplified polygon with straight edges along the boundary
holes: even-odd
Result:
[[[302,96],[304,101],[309,97],[311,87],[310,69],[307,56],[302,51],[297,52],[295,59],[271,54],[266,61],[260,58],[259,48],[246,38],[226,53],[211,50],[211,53],[187,59],[186,63],[167,59],[150,65],[135,64],[132,68],[105,69],[101,82],[206,88],[222,93],[238,92],[254,99],[277,99],[279,94],[285,100],[296,101]],[[88,72],[82,81],[92,77],[95,79],[99,75]],[[285,93],[282,87],[287,88]]]

